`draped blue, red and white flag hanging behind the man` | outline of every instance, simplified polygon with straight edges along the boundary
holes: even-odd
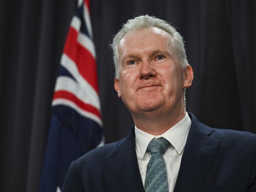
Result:
[[[84,0],[72,18],[52,100],[41,192],[59,192],[70,163],[103,144],[96,54]]]

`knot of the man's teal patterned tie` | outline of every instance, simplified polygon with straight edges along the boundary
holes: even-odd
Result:
[[[152,153],[161,153],[163,154],[167,148],[170,146],[170,142],[165,138],[160,137],[155,140],[150,141],[148,144],[147,150]]]

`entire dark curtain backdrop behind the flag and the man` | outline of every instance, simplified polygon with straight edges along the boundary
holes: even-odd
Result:
[[[0,1],[0,191],[38,191],[59,60],[76,0]],[[133,125],[113,89],[108,44],[142,14],[184,36],[193,86],[187,111],[209,126],[256,133],[256,2],[91,0],[106,143]]]

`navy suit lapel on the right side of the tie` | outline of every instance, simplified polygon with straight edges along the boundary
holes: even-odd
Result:
[[[210,137],[214,129],[201,124],[193,114],[174,192],[198,191],[219,148]]]

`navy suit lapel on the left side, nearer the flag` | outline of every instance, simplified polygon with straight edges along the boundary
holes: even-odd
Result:
[[[117,149],[110,153],[107,158],[121,190],[124,192],[143,192],[144,188],[135,151],[134,128],[117,145]]]

